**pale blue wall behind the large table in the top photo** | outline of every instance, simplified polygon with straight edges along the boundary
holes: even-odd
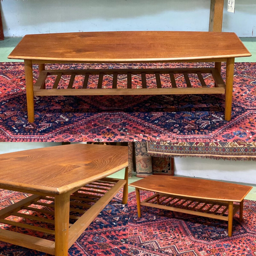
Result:
[[[256,1],[236,0],[223,31],[256,36]],[[210,0],[4,0],[5,36],[115,30],[207,31]]]

